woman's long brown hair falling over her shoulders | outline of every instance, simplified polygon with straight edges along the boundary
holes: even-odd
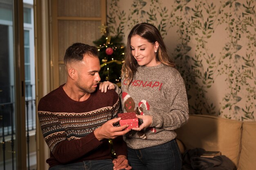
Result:
[[[132,55],[132,50],[130,47],[130,40],[134,35],[139,35],[141,36],[141,38],[144,38],[152,44],[158,42],[159,47],[156,53],[156,61],[167,66],[175,67],[174,62],[171,60],[171,57],[169,57],[169,55],[167,54],[166,46],[158,29],[154,25],[148,23],[137,24],[132,28],[128,35],[126,55],[121,70],[122,77],[124,77],[124,79],[127,79],[128,81],[127,88],[131,83],[132,79],[134,78],[134,75],[137,71],[137,67],[139,66],[139,64]]]

